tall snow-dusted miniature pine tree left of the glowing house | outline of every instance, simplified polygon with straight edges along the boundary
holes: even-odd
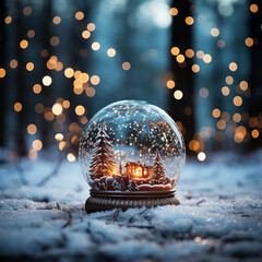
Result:
[[[108,135],[103,127],[99,128],[95,139],[96,142],[94,150],[92,151],[93,155],[90,165],[91,179],[93,180],[104,176],[111,176],[114,166],[116,165],[116,163],[112,160],[112,145],[107,140]]]

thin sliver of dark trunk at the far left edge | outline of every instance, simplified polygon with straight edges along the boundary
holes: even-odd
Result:
[[[5,61],[5,56],[4,56],[4,15],[5,15],[5,7],[4,7],[4,1],[0,1],[0,68],[4,68],[4,61]],[[4,146],[4,114],[5,114],[5,103],[4,103],[4,97],[5,97],[5,80],[1,80],[2,86],[0,87],[0,147]]]

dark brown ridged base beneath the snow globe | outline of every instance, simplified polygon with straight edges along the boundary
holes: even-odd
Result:
[[[121,209],[126,211],[130,207],[157,205],[179,205],[179,200],[175,196],[176,190],[166,191],[94,191],[85,202],[87,213],[97,211],[108,211]]]

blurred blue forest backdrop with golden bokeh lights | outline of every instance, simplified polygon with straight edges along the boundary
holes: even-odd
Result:
[[[245,0],[0,2],[0,147],[75,160],[104,106],[165,109],[187,151],[258,148],[262,130],[261,7]]]

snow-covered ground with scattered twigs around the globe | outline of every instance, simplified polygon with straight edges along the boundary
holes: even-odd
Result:
[[[79,163],[38,186],[55,166],[0,165],[1,261],[262,260],[262,151],[187,163],[180,206],[91,215]]]

